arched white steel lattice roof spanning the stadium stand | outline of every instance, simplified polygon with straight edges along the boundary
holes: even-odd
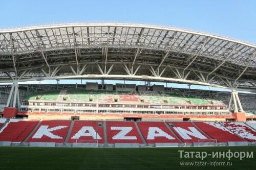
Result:
[[[137,23],[0,30],[0,82],[127,79],[256,91],[256,45]]]

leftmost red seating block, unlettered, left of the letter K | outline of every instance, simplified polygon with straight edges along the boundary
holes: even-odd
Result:
[[[38,120],[10,119],[0,131],[0,141],[22,142],[37,123]]]

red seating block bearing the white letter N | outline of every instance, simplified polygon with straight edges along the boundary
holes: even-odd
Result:
[[[194,143],[198,140],[211,139],[208,135],[204,134],[193,123],[190,122],[168,122],[173,124],[172,131],[185,143]]]

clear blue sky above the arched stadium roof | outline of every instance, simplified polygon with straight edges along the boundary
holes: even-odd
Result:
[[[0,4],[0,28],[66,21],[127,21],[209,32],[256,44],[253,0],[5,0]]]

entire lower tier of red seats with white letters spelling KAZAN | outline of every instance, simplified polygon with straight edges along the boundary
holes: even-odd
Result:
[[[242,122],[135,122],[28,120],[0,118],[0,141],[55,143],[198,143],[255,142],[256,123]],[[104,123],[106,124],[104,126]],[[169,127],[168,127],[169,126]],[[106,134],[104,133],[106,127]],[[68,135],[68,132],[70,134]],[[140,132],[143,136],[141,138]],[[106,135],[106,136],[104,136]],[[68,136],[68,137],[67,137]],[[204,141],[205,140],[205,141]]]

